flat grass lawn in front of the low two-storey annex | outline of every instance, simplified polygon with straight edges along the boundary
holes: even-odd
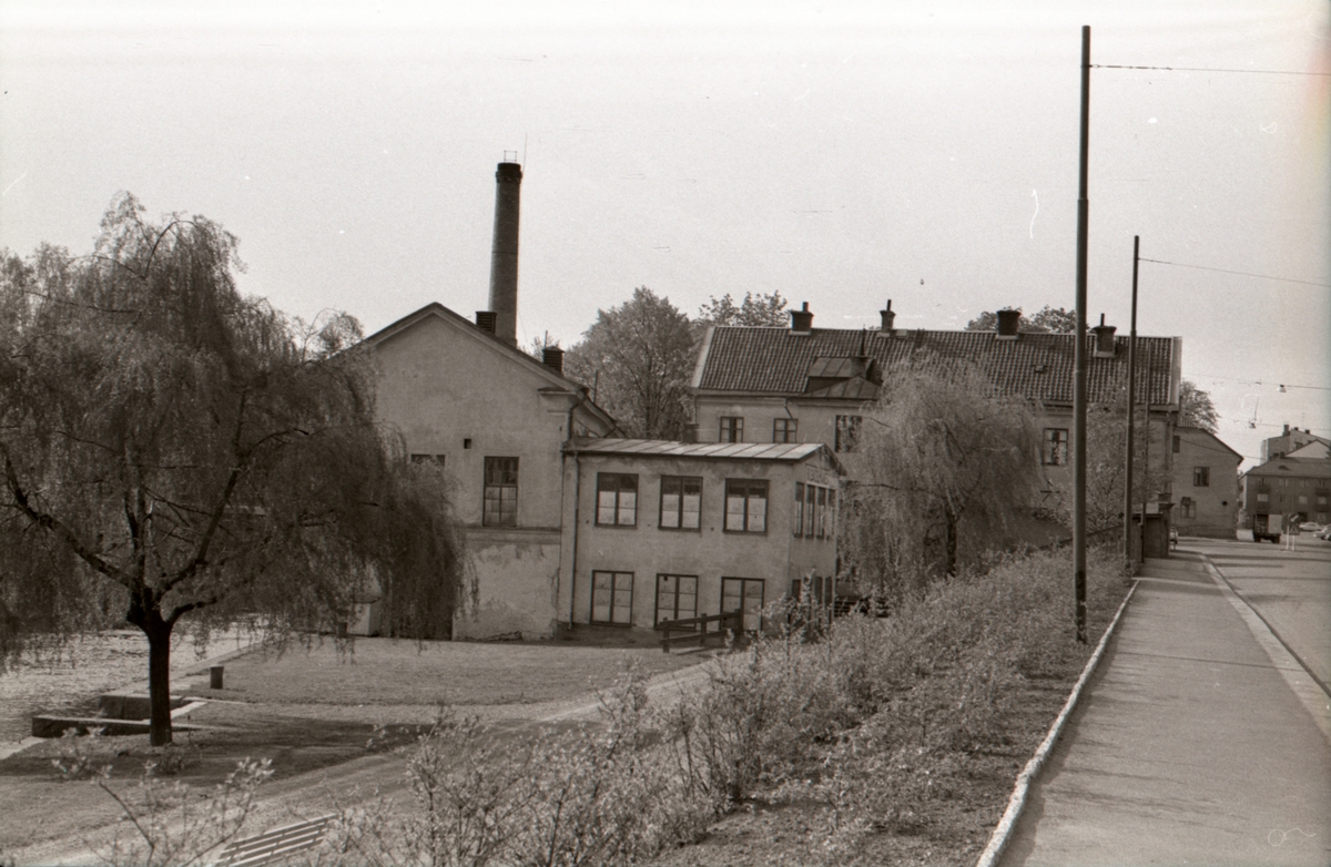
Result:
[[[225,689],[208,689],[205,673],[188,691],[266,705],[535,703],[604,689],[631,665],[650,677],[703,658],[655,646],[357,638],[349,653],[331,641],[282,654],[254,650],[226,662]]]

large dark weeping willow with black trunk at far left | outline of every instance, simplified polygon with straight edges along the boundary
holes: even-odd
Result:
[[[92,255],[0,273],[0,650],[137,626],[153,745],[182,618],[285,632],[382,596],[429,637],[466,597],[442,480],[374,422],[359,326],[241,297],[236,245],[122,194]]]

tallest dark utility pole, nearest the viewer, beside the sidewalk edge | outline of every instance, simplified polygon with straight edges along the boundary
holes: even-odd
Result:
[[[1090,27],[1082,27],[1081,168],[1077,194],[1077,348],[1073,375],[1073,596],[1077,641],[1086,644],[1086,235],[1090,202]]]

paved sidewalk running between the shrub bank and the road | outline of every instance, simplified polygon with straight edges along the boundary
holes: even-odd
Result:
[[[1147,561],[1001,863],[1331,864],[1326,721],[1272,653],[1201,558]]]

